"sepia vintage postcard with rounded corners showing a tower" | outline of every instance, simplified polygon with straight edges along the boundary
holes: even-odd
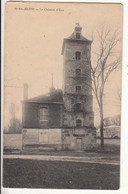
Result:
[[[121,4],[7,2],[3,187],[120,188]]]

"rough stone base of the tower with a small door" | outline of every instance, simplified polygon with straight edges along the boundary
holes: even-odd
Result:
[[[62,130],[63,150],[93,150],[96,147],[96,128],[66,128]]]

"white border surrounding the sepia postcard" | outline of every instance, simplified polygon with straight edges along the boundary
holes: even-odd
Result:
[[[30,0],[25,0],[30,1]],[[36,0],[31,0],[36,1]],[[42,2],[41,0],[38,0]],[[4,94],[3,94],[3,75],[4,75],[4,21],[5,21],[5,3],[7,0],[2,0],[2,71],[1,71],[1,102],[3,102]],[[45,1],[45,2],[69,2],[68,0],[65,1]],[[47,194],[59,194],[59,193],[74,193],[74,194],[84,194],[87,193],[111,193],[111,194],[126,194],[128,193],[128,0],[93,0],[93,1],[82,1],[82,0],[70,0],[70,2],[85,2],[85,3],[121,3],[123,4],[124,8],[124,14],[123,14],[123,72],[122,72],[122,134],[121,134],[121,183],[120,183],[120,189],[119,190],[59,190],[59,189],[7,189],[7,188],[1,188],[2,194],[35,194],[35,192],[38,194],[47,193]],[[1,115],[3,115],[3,103],[1,103]],[[3,129],[3,117],[1,119],[1,129]],[[3,145],[3,138],[2,138],[3,130],[1,130],[1,147]],[[3,155],[3,150],[1,149],[1,158]],[[2,160],[1,160],[2,161]],[[2,164],[1,164],[1,172],[2,172]],[[1,173],[1,180],[2,180],[2,173]]]

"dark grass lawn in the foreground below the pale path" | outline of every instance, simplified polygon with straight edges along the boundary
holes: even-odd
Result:
[[[3,186],[11,188],[118,189],[119,166],[4,159]]]

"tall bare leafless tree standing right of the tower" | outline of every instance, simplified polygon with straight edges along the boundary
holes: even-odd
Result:
[[[117,38],[117,31],[102,28],[97,30],[97,44],[98,49],[96,54],[96,62],[91,67],[91,80],[92,90],[96,97],[97,104],[100,111],[100,136],[101,136],[101,149],[104,149],[104,133],[103,133],[103,120],[104,120],[104,91],[105,84],[111,73],[117,69],[120,63],[120,57],[115,52],[115,48],[119,39]]]

